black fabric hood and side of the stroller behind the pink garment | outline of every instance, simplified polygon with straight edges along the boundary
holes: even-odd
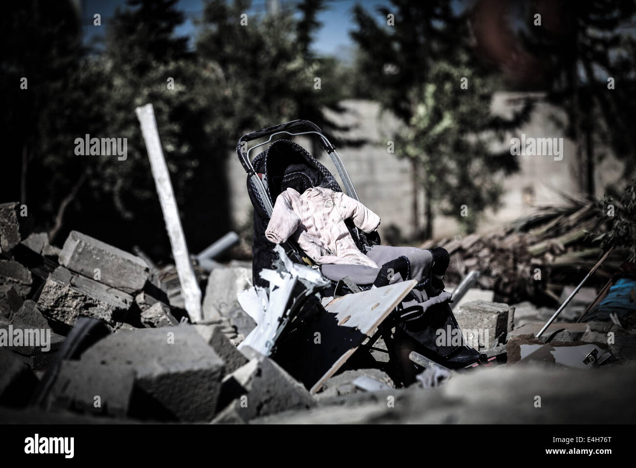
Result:
[[[302,146],[287,139],[272,143],[252,161],[254,171],[261,174],[268,197],[275,204],[276,198],[287,188],[302,194],[311,187],[324,187],[342,192],[340,185],[329,170],[315,160]],[[256,286],[267,287],[268,282],[260,278],[259,271],[272,268],[277,259],[274,244],[265,238],[265,229],[270,218],[251,178],[247,178],[247,192],[254,206],[254,239],[252,240],[252,281]],[[364,253],[364,246],[350,220],[345,222],[356,245]]]

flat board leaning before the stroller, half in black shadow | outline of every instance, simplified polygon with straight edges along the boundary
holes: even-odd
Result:
[[[300,330],[281,337],[273,360],[315,394],[416,283],[402,281],[334,299]]]

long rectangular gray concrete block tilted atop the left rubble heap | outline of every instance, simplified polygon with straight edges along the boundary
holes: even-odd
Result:
[[[76,230],[66,239],[59,261],[76,273],[126,292],[141,290],[150,273],[140,257]]]

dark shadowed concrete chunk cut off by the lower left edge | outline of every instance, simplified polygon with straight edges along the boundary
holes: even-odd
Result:
[[[31,399],[38,378],[11,351],[0,349],[0,405],[26,406]]]

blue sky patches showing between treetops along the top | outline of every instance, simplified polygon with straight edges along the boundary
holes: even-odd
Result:
[[[293,6],[296,0],[279,0],[280,4]],[[95,39],[95,36],[103,34],[103,30],[93,26],[92,18],[95,13],[102,16],[102,27],[107,27],[109,18],[113,16],[115,8],[125,7],[125,0],[79,0],[81,4],[83,29],[85,43]],[[322,23],[321,30],[315,36],[314,50],[324,55],[338,55],[339,53],[347,53],[352,46],[352,40],[349,31],[354,27],[352,8],[354,4],[360,3],[370,11],[377,13],[377,7],[389,4],[388,0],[332,0],[328,4],[328,8],[319,14],[318,20]],[[193,19],[200,16],[203,10],[203,0],[180,0],[179,9],[186,14],[186,22],[177,29],[177,34],[193,36],[196,27]],[[252,8],[247,13],[265,13],[266,0],[252,1]]]

